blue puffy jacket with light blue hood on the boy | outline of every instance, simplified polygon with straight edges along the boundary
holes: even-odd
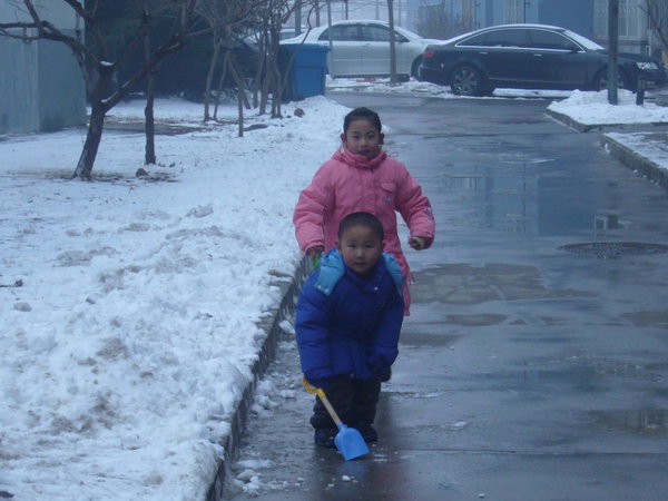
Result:
[[[390,254],[383,253],[367,281],[345,265],[337,249],[323,255],[297,302],[295,330],[307,380],[386,373],[399,354],[402,279]]]

